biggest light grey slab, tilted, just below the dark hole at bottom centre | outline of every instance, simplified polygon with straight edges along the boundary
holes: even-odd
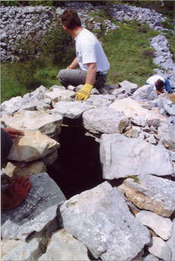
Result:
[[[130,213],[119,189],[108,182],[66,200],[59,220],[102,260],[132,260],[150,242],[149,230]]]

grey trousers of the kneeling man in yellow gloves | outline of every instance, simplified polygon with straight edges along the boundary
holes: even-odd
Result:
[[[64,87],[69,85],[78,86],[79,84],[85,84],[86,71],[66,69],[59,71],[59,81]],[[99,89],[107,81],[107,74],[96,74],[96,81],[93,87]]]

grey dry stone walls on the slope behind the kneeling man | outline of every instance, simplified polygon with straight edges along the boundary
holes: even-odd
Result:
[[[92,31],[96,31],[96,29],[100,29],[101,23],[95,22],[93,17],[89,17],[89,13],[105,10],[106,7],[93,6],[92,3],[69,1],[66,1],[62,7],[56,8],[56,10],[45,6],[1,6],[1,61],[15,61],[15,58],[18,59],[19,54],[17,52],[20,52],[18,40],[36,38],[39,45],[40,37],[44,37],[48,27],[54,26],[56,18],[59,18],[66,8],[75,8],[82,19],[83,26],[88,26]],[[165,21],[166,17],[156,13],[155,10],[118,3],[112,4],[108,12],[117,22],[121,22],[123,19],[127,21],[137,19],[141,23],[146,22],[155,31],[165,30],[161,22]],[[105,22],[106,32],[117,28],[110,20],[105,19],[103,22]],[[160,68],[162,68],[162,70],[155,68],[155,72],[169,79],[170,84],[175,88],[175,66],[165,35],[158,35],[152,38],[150,42],[151,46],[156,50],[153,60],[155,64],[160,65]],[[39,54],[40,50],[38,49]]]

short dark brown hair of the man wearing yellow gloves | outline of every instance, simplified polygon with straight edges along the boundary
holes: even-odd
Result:
[[[82,26],[82,22],[77,15],[77,12],[73,9],[65,10],[61,15],[61,23],[66,26],[67,29],[75,29],[77,26]]]

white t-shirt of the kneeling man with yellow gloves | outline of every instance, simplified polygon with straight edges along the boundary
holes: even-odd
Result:
[[[88,70],[86,63],[96,63],[96,72],[106,72],[109,70],[109,61],[102,49],[102,45],[93,33],[83,29],[75,38],[76,54],[79,67]]]

